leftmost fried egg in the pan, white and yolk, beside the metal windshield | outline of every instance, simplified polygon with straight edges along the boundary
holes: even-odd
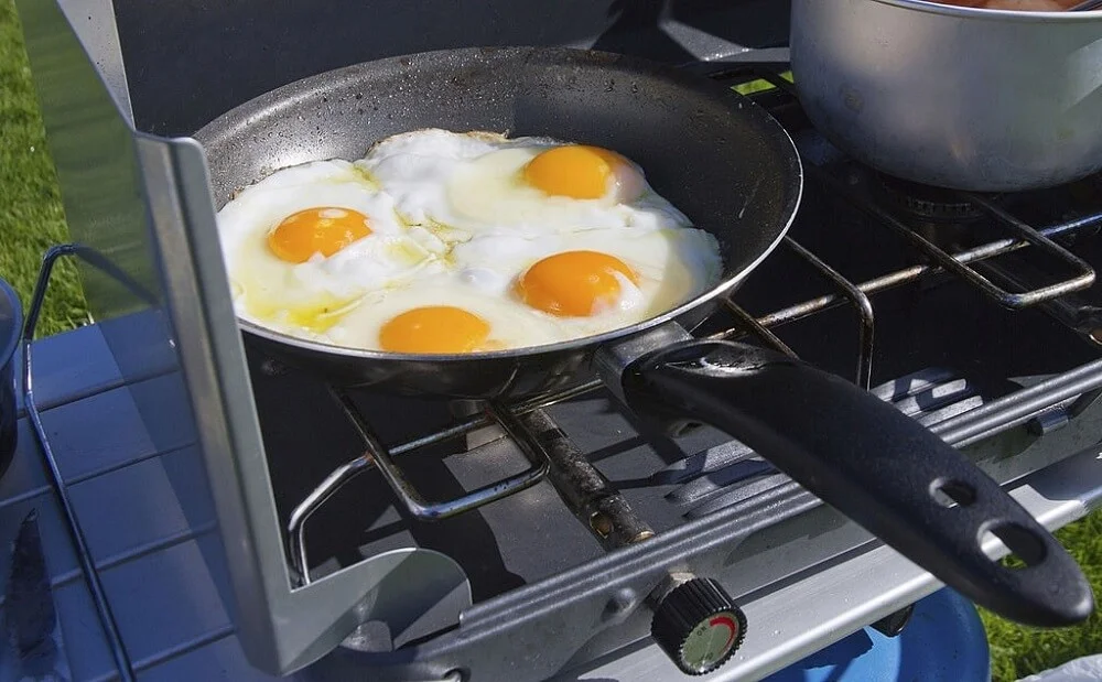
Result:
[[[445,245],[408,228],[393,201],[346,161],[278,171],[217,215],[239,316],[316,338],[365,293],[442,269]]]

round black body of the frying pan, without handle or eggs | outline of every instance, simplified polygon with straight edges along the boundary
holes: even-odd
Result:
[[[604,342],[678,318],[733,289],[788,229],[800,161],[764,110],[705,78],[636,58],[557,48],[431,52],[292,83],[196,133],[216,206],[272,171],[357,159],[374,142],[421,128],[537,134],[616,150],[655,190],[720,240],[723,283],[668,315],[580,342],[477,356],[337,348],[242,323],[253,342],[344,385],[458,398],[517,397],[577,381]],[[396,360],[399,360],[396,362]]]

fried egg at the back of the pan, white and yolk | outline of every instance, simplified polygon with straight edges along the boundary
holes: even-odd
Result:
[[[540,235],[690,225],[629,159],[550,138],[419,130],[387,138],[356,165],[408,221],[430,228]]]

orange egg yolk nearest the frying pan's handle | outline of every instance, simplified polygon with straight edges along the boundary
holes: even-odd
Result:
[[[549,256],[517,280],[516,292],[528,305],[559,316],[587,317],[616,303],[616,273],[638,283],[620,259],[598,251],[565,251]]]

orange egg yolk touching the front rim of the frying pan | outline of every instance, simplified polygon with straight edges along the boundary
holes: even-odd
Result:
[[[406,311],[379,331],[379,345],[391,353],[471,353],[489,336],[489,324],[451,305]]]

